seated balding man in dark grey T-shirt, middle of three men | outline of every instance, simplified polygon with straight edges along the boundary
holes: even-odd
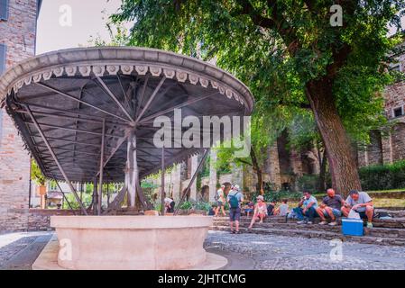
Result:
[[[327,189],[327,196],[324,197],[322,203],[319,205],[317,212],[321,219],[319,225],[326,225],[327,219],[330,218],[330,226],[337,224],[336,217],[342,216],[340,211],[345,204],[345,200],[340,195],[336,195],[335,190]]]

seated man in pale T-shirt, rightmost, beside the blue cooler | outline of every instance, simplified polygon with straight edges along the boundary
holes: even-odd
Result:
[[[360,214],[360,218],[367,218],[367,228],[373,228],[374,207],[373,199],[368,193],[352,190],[347,197],[342,213],[347,217],[351,210]]]

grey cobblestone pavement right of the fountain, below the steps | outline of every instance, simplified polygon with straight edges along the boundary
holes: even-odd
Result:
[[[228,258],[225,269],[405,269],[405,247],[344,242],[339,254],[339,246],[329,240],[224,231],[209,231],[205,247]]]

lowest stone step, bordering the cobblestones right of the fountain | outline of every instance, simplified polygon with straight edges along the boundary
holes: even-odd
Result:
[[[229,231],[228,226],[215,226],[213,230]],[[405,239],[403,238],[388,238],[388,237],[374,237],[374,236],[344,236],[341,233],[330,231],[317,231],[312,229],[272,229],[272,228],[253,228],[253,229],[241,229],[244,233],[256,233],[256,234],[272,234],[288,237],[304,237],[304,238],[325,238],[325,239],[341,239],[342,241],[359,242],[364,244],[376,244],[376,245],[393,245],[393,246],[405,246]]]

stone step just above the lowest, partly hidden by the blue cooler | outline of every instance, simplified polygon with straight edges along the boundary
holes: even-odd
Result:
[[[216,221],[214,226],[228,226],[226,221]],[[242,228],[247,228],[249,226],[248,222],[241,222]],[[262,224],[255,223],[254,228],[261,229],[310,229],[312,231],[320,232],[334,232],[341,233],[342,226],[329,226],[329,225],[318,225],[318,224],[297,224],[294,222],[278,223],[278,222],[264,222]],[[388,238],[404,238],[405,239],[405,229],[394,229],[394,228],[364,228],[364,234],[367,236],[374,237],[388,237]]]

